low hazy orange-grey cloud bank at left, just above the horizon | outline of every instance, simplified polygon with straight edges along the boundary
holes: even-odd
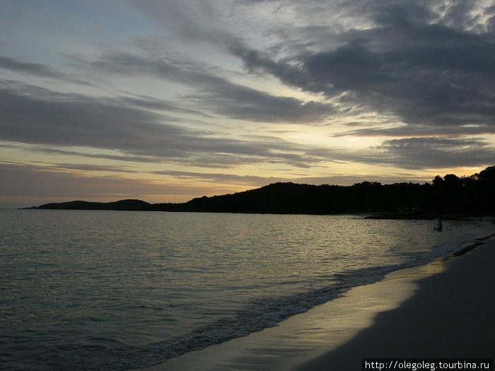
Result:
[[[83,165],[84,167],[84,165]],[[62,201],[142,199],[151,203],[183,202],[198,195],[226,194],[228,187],[184,182],[153,182],[139,177],[84,175],[63,167],[0,163],[0,205],[39,206]],[[234,191],[235,192],[235,191]]]

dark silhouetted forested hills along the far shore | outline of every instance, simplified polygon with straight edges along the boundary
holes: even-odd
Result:
[[[38,208],[224,213],[377,213],[384,218],[495,215],[495,166],[469,177],[437,176],[431,184],[362,182],[352,186],[274,183],[182,204],[72,201]]]

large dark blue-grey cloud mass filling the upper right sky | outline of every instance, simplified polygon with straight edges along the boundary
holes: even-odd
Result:
[[[345,2],[344,2],[345,3]],[[429,3],[347,1],[360,6],[372,28],[347,30],[339,46],[276,59],[267,52],[231,47],[248,71],[269,73],[312,93],[338,98],[344,107],[392,114],[407,124],[482,124],[494,127],[495,45],[473,23],[472,6],[439,18]],[[431,5],[431,4],[430,4]],[[330,31],[329,31],[330,32]]]

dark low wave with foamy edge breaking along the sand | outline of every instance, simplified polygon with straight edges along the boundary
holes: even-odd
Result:
[[[438,245],[429,252],[411,254],[410,259],[402,264],[386,266],[370,266],[336,273],[325,288],[309,290],[306,293],[285,296],[282,298],[264,298],[252,302],[246,310],[235,312],[209,325],[195,329],[186,336],[174,338],[172,341],[154,343],[152,346],[136,350],[132,360],[122,361],[109,367],[110,370],[126,370],[129,368],[148,367],[174,358],[190,351],[198,351],[207,346],[224,341],[248,336],[252,332],[276,326],[295,314],[307,312],[317,305],[334,300],[351,288],[368,285],[383,280],[385,276],[400,269],[421,266],[438,258],[458,256],[459,252],[469,251],[480,245],[489,237],[474,240],[470,247],[460,249],[461,242],[455,245]]]

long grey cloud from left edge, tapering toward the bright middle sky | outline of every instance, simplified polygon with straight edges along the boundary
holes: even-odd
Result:
[[[168,117],[126,105],[117,98],[62,95],[21,83],[8,83],[0,88],[0,120],[0,139],[44,145],[40,151],[45,153],[73,154],[52,146],[90,147],[120,151],[132,160],[166,159],[208,167],[264,160],[309,167],[323,160],[305,155],[301,146],[279,139],[265,137],[256,143],[219,138],[211,131],[166,124]],[[120,155],[86,156],[124,160]]]

